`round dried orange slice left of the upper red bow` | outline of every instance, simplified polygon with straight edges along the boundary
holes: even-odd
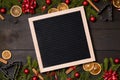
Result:
[[[18,5],[12,6],[12,8],[10,9],[10,14],[14,17],[19,17],[22,14],[21,7]]]

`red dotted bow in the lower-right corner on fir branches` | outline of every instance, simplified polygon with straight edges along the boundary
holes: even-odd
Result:
[[[119,80],[117,72],[112,70],[105,71],[103,78],[104,80]]]

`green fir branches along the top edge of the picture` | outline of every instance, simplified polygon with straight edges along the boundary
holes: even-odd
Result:
[[[5,7],[7,9],[7,14],[10,14],[10,8],[13,5],[22,6],[22,1],[23,0],[21,0],[21,2],[19,2],[18,0],[0,0],[0,7]],[[83,1],[84,0],[71,0],[71,3],[68,6],[69,8],[82,6]],[[52,0],[52,4],[50,5],[47,5],[45,0],[36,0],[36,2],[37,2],[37,8],[35,9],[36,13],[46,14],[50,8],[57,7],[57,5],[62,3],[63,0]],[[43,6],[46,6],[46,9],[44,11],[42,11]],[[97,17],[97,12],[90,5],[86,6],[85,10],[88,18],[91,15]]]

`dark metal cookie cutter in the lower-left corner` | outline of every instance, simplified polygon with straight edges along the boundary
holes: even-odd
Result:
[[[13,62],[12,64],[1,67],[0,71],[2,72],[2,75],[0,74],[0,80],[16,80],[21,65],[21,62]]]

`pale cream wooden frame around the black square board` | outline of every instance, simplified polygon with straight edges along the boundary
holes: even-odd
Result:
[[[86,34],[86,39],[87,39],[89,52],[90,52],[90,58],[44,68],[43,64],[42,64],[43,62],[42,62],[41,55],[40,55],[40,49],[39,49],[39,46],[38,46],[38,41],[37,41],[37,37],[36,37],[36,34],[35,34],[33,21],[42,20],[42,19],[51,18],[51,17],[56,17],[56,16],[60,16],[60,15],[64,15],[64,14],[69,14],[69,13],[76,12],[76,11],[80,11],[80,13],[81,13],[83,26],[84,26],[84,30],[85,30],[85,34]],[[37,55],[37,60],[38,60],[38,64],[39,64],[39,68],[40,68],[41,73],[95,61],[93,46],[92,46],[91,37],[90,37],[88,24],[87,24],[87,20],[86,20],[85,11],[84,11],[83,6],[68,9],[68,10],[64,10],[64,11],[60,11],[60,12],[54,12],[54,13],[50,13],[50,14],[45,14],[45,15],[32,17],[32,18],[29,18],[28,20],[29,20],[32,39],[33,39],[35,52],[36,52],[36,55]]]

